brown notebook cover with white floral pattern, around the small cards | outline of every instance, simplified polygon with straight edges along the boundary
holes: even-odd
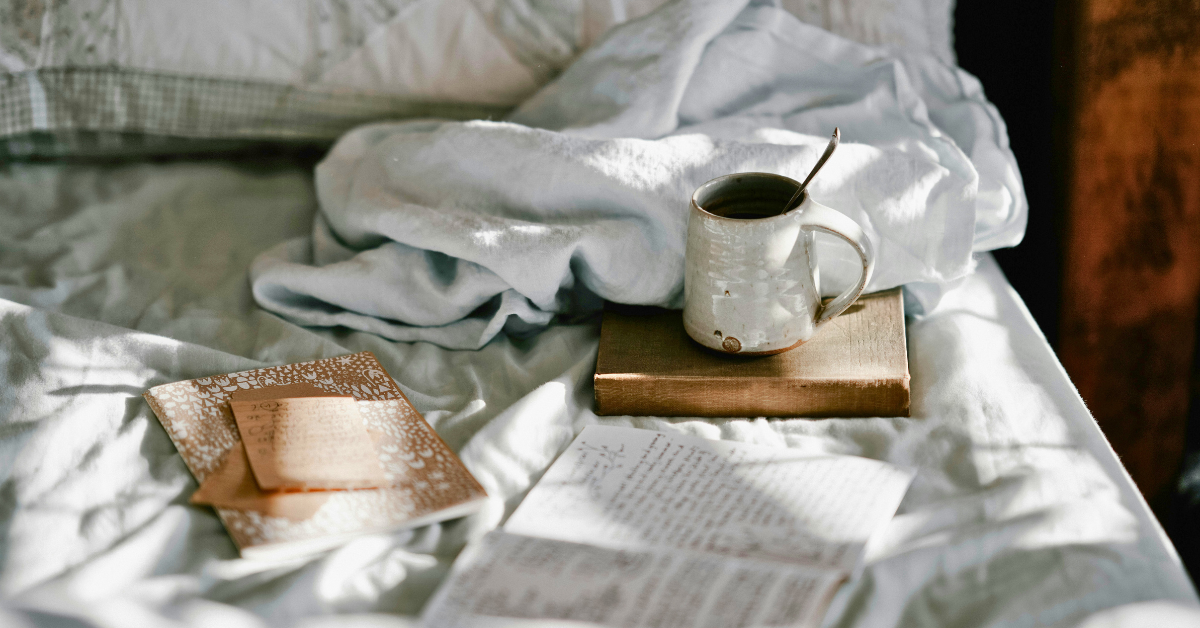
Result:
[[[474,513],[487,497],[371,352],[148,390],[143,396],[202,484],[226,468],[227,456],[245,455],[230,411],[235,394],[353,396],[389,482],[382,489],[289,494],[257,510],[216,508],[244,557],[305,555],[364,533],[455,519]]]

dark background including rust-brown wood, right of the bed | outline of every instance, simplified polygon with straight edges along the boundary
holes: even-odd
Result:
[[[955,18],[1030,199],[996,257],[1200,573],[1200,0],[959,0]]]

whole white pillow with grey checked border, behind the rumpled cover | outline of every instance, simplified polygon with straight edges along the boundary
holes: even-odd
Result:
[[[0,0],[0,154],[331,142],[380,119],[499,118],[662,2]],[[953,62],[953,0],[782,4],[848,38]]]

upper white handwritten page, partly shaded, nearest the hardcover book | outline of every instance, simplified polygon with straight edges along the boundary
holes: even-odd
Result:
[[[853,570],[911,480],[865,457],[592,425],[504,530]]]

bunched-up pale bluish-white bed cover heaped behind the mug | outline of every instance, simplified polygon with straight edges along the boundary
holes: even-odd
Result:
[[[317,169],[311,239],[265,253],[258,303],[305,325],[478,348],[600,299],[679,307],[688,199],[736,172],[803,179],[875,245],[868,291],[931,310],[972,251],[1010,246],[1026,204],[1004,126],[976,83],[769,4],[676,1],[614,28],[508,122],[348,133]],[[821,285],[858,279],[818,238]]]

